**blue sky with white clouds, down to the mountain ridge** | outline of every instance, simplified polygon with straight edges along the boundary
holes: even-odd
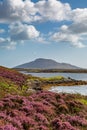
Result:
[[[37,58],[87,68],[87,0],[0,0],[0,65]]]

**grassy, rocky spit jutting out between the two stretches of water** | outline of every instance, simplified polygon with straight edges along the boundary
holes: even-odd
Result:
[[[39,78],[33,77],[28,80],[27,85],[31,86],[32,89],[38,90],[48,90],[52,86],[79,86],[79,85],[87,85],[87,81],[83,80],[75,80],[71,78],[57,79],[58,77],[51,78]]]

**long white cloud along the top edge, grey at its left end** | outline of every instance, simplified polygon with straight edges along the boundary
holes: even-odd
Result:
[[[0,22],[33,22],[67,20],[71,7],[58,0],[3,0],[0,2]],[[54,15],[55,14],[55,15]]]

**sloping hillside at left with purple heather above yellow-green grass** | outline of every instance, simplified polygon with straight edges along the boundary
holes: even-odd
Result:
[[[22,94],[26,80],[26,75],[0,66],[0,98],[7,94]]]

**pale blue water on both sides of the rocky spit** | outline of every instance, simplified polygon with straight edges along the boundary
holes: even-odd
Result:
[[[37,77],[53,77],[53,76],[63,76],[71,77],[76,80],[87,80],[87,73],[26,73]],[[87,95],[87,85],[81,86],[52,86],[49,91],[52,92],[64,92],[64,93],[79,93],[82,95]]]

